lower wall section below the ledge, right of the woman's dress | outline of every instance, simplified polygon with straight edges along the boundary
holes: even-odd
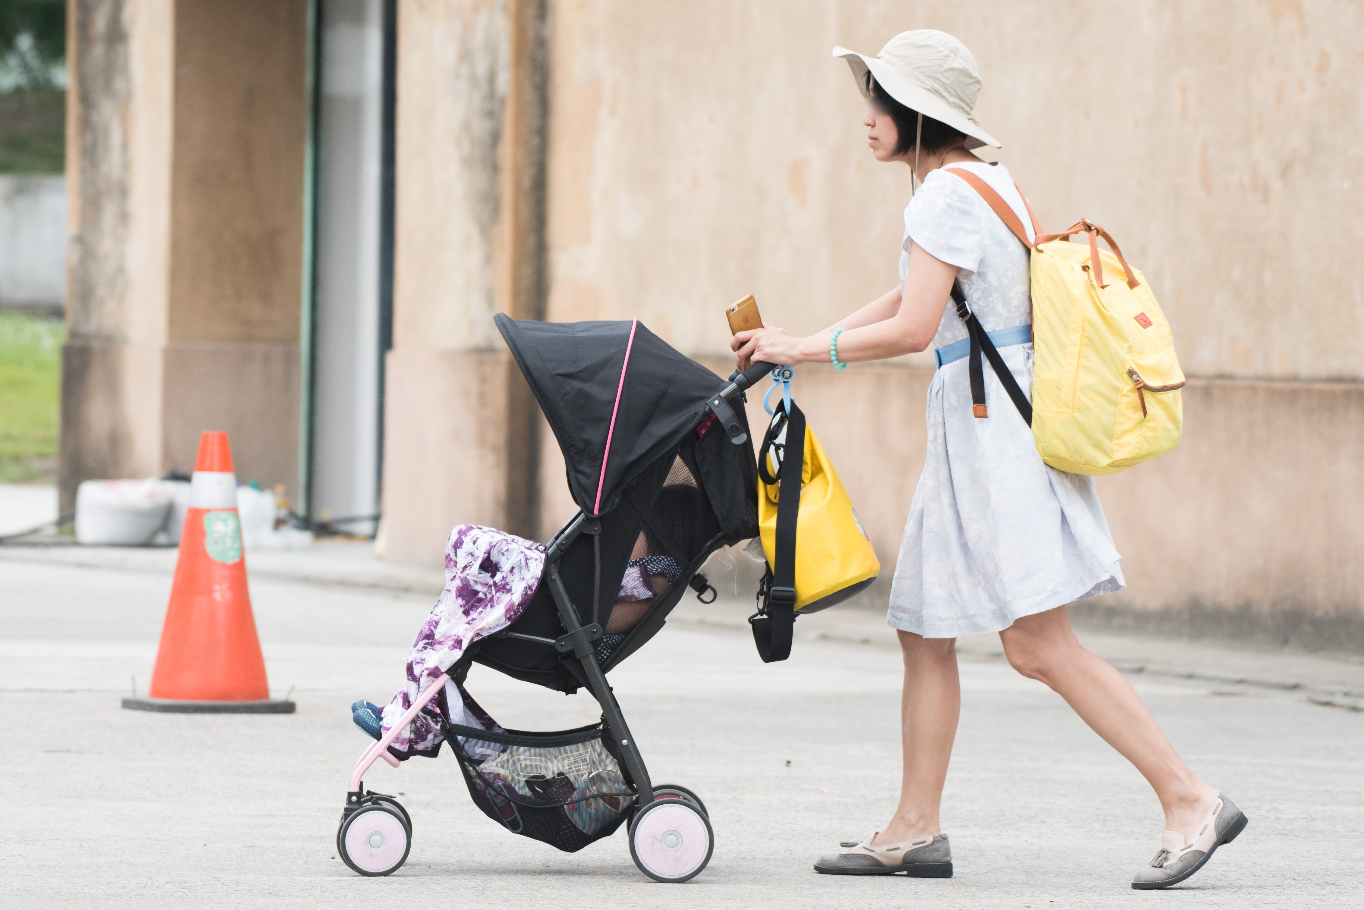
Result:
[[[1191,380],[1168,456],[1101,477],[1117,628],[1364,653],[1364,386]]]

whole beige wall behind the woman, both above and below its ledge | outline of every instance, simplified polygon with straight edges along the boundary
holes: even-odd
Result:
[[[719,311],[739,296],[803,334],[892,287],[908,172],[870,158],[829,49],[949,31],[981,64],[992,157],[1046,227],[1112,230],[1194,377],[1184,444],[1099,481],[1129,590],[1078,612],[1364,648],[1357,4],[548,8],[548,319],[638,316],[724,372]],[[925,360],[803,368],[797,386],[885,578],[922,466]],[[548,533],[572,503],[552,441],[542,454]]]

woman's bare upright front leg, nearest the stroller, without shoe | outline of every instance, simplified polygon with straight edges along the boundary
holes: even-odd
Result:
[[[952,757],[956,719],[962,714],[962,681],[956,674],[956,639],[926,639],[900,632],[904,655],[904,693],[900,697],[900,736],[904,774],[900,804],[885,830],[872,843],[895,843],[940,834],[938,804]]]

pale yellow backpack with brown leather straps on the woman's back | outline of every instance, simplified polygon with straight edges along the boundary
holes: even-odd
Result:
[[[1142,272],[1127,264],[1106,230],[1088,221],[1058,234],[1043,234],[1024,198],[1037,237],[1028,242],[1023,222],[989,184],[967,170],[947,172],[966,180],[1031,251],[1034,357],[1028,407],[956,285],[952,297],[958,315],[967,320],[974,364],[979,364],[979,346],[1031,424],[1042,460],[1073,474],[1116,474],[1174,448],[1184,428],[1184,373],[1170,326]],[[1088,247],[1067,240],[1080,232],[1088,234]],[[1099,249],[1101,236],[1112,252]],[[1105,275],[1110,281],[1105,282]],[[979,368],[974,366],[974,372],[978,375]],[[975,387],[973,377],[973,402]],[[985,415],[983,387],[975,413]]]

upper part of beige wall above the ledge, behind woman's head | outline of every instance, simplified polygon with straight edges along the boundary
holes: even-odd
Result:
[[[551,3],[550,315],[638,315],[705,353],[726,338],[708,313],[746,292],[814,331],[893,286],[908,170],[870,158],[829,49],[934,27],[981,64],[990,154],[1045,226],[1110,227],[1191,375],[1360,379],[1361,18],[1345,0]]]

